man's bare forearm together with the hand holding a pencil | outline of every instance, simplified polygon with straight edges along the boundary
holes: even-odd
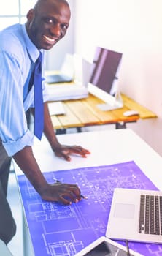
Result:
[[[31,146],[26,146],[23,150],[18,151],[13,158],[42,199],[64,204],[77,203],[80,200],[80,189],[75,184],[47,184],[34,158]],[[65,199],[65,197],[69,199]]]

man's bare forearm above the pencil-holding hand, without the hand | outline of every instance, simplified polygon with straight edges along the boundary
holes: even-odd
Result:
[[[31,146],[18,151],[13,159],[40,195],[47,187],[47,181],[36,162]]]

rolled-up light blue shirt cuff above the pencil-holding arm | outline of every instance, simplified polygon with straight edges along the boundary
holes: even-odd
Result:
[[[26,134],[22,138],[16,141],[3,142],[3,146],[7,151],[9,157],[15,155],[18,151],[25,148],[25,146],[33,146],[34,144],[34,134],[27,130]]]

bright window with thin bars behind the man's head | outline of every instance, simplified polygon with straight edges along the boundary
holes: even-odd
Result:
[[[36,0],[5,0],[0,9],[0,29],[15,23],[25,23],[26,13]]]

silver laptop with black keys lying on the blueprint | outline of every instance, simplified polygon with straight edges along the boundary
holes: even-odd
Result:
[[[116,188],[106,236],[162,244],[162,192]]]

